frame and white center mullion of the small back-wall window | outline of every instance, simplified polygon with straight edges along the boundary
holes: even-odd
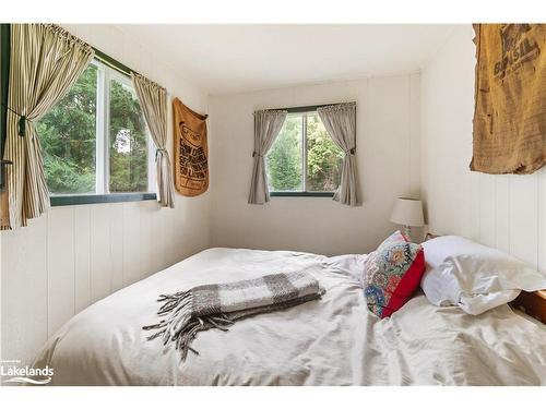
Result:
[[[341,103],[332,103],[332,104],[324,104],[324,105],[310,105],[310,106],[304,106],[304,107],[290,107],[290,108],[274,108],[275,110],[284,110],[287,111],[288,115],[290,113],[298,113],[301,115],[301,175],[302,175],[302,181],[301,181],[301,191],[270,191],[270,196],[271,197],[333,197],[335,194],[335,191],[308,191],[307,190],[307,115],[309,113],[317,113],[318,108],[322,107],[329,107],[331,105],[339,105]],[[268,189],[269,189],[269,181],[268,181]]]

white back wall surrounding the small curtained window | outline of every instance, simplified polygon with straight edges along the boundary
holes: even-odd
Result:
[[[272,197],[247,204],[253,151],[252,111],[356,100],[364,206],[322,197]],[[393,229],[394,199],[419,194],[419,75],[307,85],[215,96],[211,113],[214,245],[323,254],[367,252]]]

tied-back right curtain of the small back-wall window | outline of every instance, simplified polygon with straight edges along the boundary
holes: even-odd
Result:
[[[343,169],[334,201],[358,206],[358,172],[356,168],[356,103],[318,108],[317,112],[334,143],[343,149]]]

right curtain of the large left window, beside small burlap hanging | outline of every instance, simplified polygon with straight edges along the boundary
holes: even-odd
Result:
[[[170,171],[167,143],[167,92],[164,87],[139,74],[131,74],[140,106],[144,112],[147,128],[157,148],[155,163],[157,167],[158,201],[163,207],[175,207],[173,173]]]

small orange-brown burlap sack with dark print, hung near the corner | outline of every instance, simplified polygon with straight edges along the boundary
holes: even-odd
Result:
[[[206,117],[192,111],[178,98],[173,100],[175,188],[185,196],[198,196],[209,189]]]

